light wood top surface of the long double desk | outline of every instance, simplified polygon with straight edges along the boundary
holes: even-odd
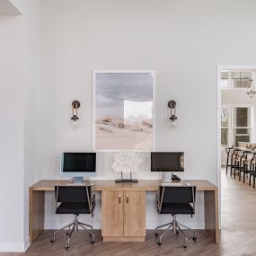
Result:
[[[55,186],[66,185],[67,180],[41,180],[30,187],[33,191],[54,191]],[[115,183],[114,180],[98,180],[92,181],[94,184],[93,191],[102,190],[146,190],[157,191],[161,181],[155,180],[139,180],[137,183]],[[190,183],[192,186],[197,186],[198,191],[217,190],[216,185],[207,180],[181,180],[185,185]]]

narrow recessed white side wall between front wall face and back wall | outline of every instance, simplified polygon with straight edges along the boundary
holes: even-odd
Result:
[[[29,245],[29,187],[39,181],[41,1],[26,0],[23,6],[24,77],[24,247]]]

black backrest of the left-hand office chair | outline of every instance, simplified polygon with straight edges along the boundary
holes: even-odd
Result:
[[[56,201],[62,203],[91,203],[92,186],[56,186]]]

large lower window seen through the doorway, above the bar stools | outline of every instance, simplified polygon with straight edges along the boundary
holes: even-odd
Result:
[[[251,142],[252,108],[223,107],[221,111],[221,145],[238,146]]]

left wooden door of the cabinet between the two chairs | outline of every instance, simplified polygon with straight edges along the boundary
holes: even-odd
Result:
[[[102,236],[123,236],[123,191],[102,191]]]

